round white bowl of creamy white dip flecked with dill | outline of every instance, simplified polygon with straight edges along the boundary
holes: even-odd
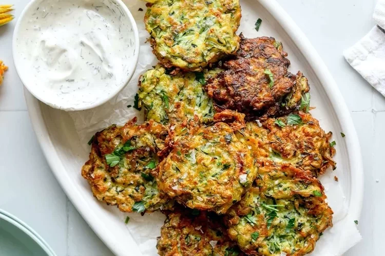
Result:
[[[13,59],[24,86],[65,111],[117,95],[138,62],[137,25],[121,0],[32,0],[17,21]]]

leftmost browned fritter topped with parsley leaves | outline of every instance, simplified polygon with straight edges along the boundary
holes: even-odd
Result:
[[[98,200],[122,211],[171,207],[172,202],[158,191],[157,179],[150,174],[160,161],[157,153],[165,146],[167,130],[153,121],[141,125],[136,121],[133,118],[123,127],[112,125],[95,134],[82,176]]]

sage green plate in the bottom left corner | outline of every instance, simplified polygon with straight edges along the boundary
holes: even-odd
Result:
[[[24,222],[0,209],[1,256],[56,256],[49,245]]]

